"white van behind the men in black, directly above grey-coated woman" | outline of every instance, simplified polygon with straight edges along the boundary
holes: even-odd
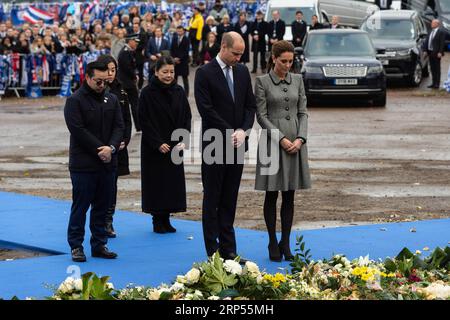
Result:
[[[318,0],[269,0],[266,10],[266,21],[272,20],[272,13],[280,11],[281,20],[286,23],[286,34],[284,40],[292,41],[291,24],[295,21],[295,13],[297,11],[303,12],[303,21],[308,25],[311,24],[311,17],[317,15],[320,23],[328,22],[327,17],[323,15],[320,10]]]

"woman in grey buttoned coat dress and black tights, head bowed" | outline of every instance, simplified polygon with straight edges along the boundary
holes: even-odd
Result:
[[[289,72],[294,47],[287,41],[272,46],[269,73],[256,78],[257,119],[262,127],[258,145],[256,190],[266,191],[264,219],[269,233],[269,258],[292,260],[289,238],[295,190],[311,187],[306,146],[308,114],[301,75]],[[276,208],[281,191],[281,241],[276,236]]]

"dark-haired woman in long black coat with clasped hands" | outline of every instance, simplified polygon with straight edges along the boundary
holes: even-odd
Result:
[[[172,133],[183,129],[188,139],[191,118],[184,90],[175,81],[175,61],[162,56],[139,97],[142,211],[152,214],[156,233],[175,232],[170,214],[186,211],[184,166],[174,162],[172,154],[182,155],[187,141],[172,141]]]

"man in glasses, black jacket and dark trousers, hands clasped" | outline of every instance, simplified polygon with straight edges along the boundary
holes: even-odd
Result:
[[[64,108],[70,131],[69,170],[73,186],[67,235],[75,262],[86,261],[83,241],[89,207],[92,256],[117,257],[106,248],[106,213],[113,196],[116,150],[123,139],[124,122],[117,97],[105,94],[107,80],[105,64],[89,63],[86,81],[67,99]]]

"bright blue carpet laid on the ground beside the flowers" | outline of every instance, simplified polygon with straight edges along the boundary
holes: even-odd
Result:
[[[87,229],[88,261],[75,265],[66,242],[70,205],[69,201],[0,192],[0,247],[2,243],[3,248],[20,244],[43,252],[61,253],[1,261],[0,298],[50,296],[52,291],[48,286],[57,286],[77,272],[89,271],[111,276],[116,288],[130,283],[156,286],[170,283],[177,274],[186,273],[193,262],[205,260],[201,223],[174,220],[177,233],[159,235],[151,232],[150,216],[118,211],[114,225],[119,237],[111,239],[108,247],[117,252],[119,258],[91,258]],[[410,232],[413,227],[417,232]],[[385,231],[381,231],[382,228]],[[367,254],[372,259],[384,259],[395,256],[405,246],[411,250],[444,247],[450,241],[449,230],[450,219],[293,231],[292,244],[296,235],[304,235],[316,260],[338,253],[350,259]],[[288,269],[287,262],[274,263],[268,259],[265,232],[237,229],[236,235],[238,253],[256,262],[261,269],[269,272]]]

